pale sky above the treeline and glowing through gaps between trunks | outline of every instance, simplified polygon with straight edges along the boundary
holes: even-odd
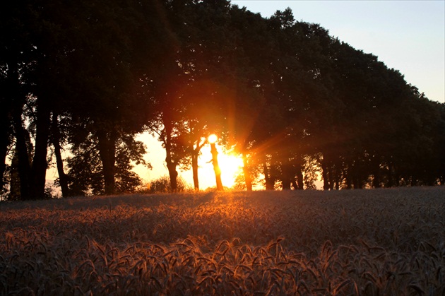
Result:
[[[319,23],[333,37],[376,55],[388,68],[401,71],[429,100],[445,102],[445,1],[256,1],[232,0],[239,7],[268,18],[290,7],[295,20]],[[148,148],[146,160],[153,170],[136,167],[146,182],[168,174],[165,150],[148,134],[138,138]],[[218,147],[218,146],[217,146]],[[222,150],[221,147],[218,149]],[[215,187],[210,148],[198,160],[201,189]],[[219,155],[223,185],[230,187],[237,165]],[[229,172],[232,170],[232,172]],[[191,170],[179,171],[193,184]]]

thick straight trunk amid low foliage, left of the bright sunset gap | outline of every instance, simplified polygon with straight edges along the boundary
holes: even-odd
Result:
[[[99,139],[99,155],[102,160],[105,194],[111,195],[115,192],[114,164],[116,162],[116,138],[117,133],[114,127],[111,131],[101,129],[97,132]]]

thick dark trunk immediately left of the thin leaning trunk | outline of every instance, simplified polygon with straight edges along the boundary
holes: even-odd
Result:
[[[37,100],[35,152],[31,169],[31,193],[35,199],[45,199],[50,118],[49,106],[45,102]]]

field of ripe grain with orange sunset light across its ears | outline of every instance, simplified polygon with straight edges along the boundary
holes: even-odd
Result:
[[[444,187],[0,203],[0,295],[444,293]]]

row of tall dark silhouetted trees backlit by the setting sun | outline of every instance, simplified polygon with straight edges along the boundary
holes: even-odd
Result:
[[[177,189],[208,134],[266,189],[444,184],[445,105],[292,11],[222,0],[3,1],[0,176],[8,199],[134,191],[150,131]],[[10,161],[7,161],[7,160]],[[149,165],[149,164],[146,164]]]

